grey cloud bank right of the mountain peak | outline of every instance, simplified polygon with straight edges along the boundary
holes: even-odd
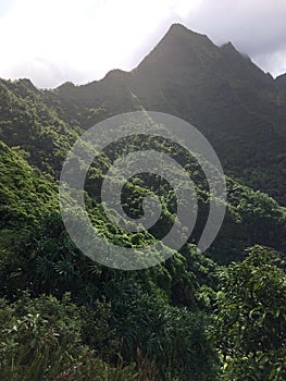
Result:
[[[285,17],[285,0],[203,0],[185,21],[217,45],[232,41],[263,70],[276,75],[286,71]]]

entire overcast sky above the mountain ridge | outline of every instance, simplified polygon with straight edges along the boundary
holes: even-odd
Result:
[[[286,0],[0,0],[0,77],[39,87],[130,70],[173,23],[286,72]]]

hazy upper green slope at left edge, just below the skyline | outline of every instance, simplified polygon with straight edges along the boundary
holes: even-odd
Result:
[[[77,133],[43,102],[42,91],[29,79],[0,79],[0,139],[24,149],[30,164],[59,173]]]

